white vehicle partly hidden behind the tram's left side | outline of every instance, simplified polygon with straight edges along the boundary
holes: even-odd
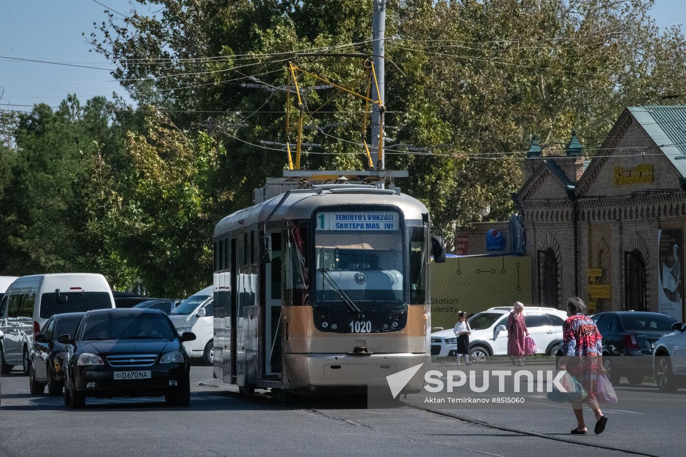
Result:
[[[192,331],[195,341],[183,343],[191,357],[202,357],[205,364],[214,362],[214,288],[209,286],[189,296],[169,314],[179,334]]]

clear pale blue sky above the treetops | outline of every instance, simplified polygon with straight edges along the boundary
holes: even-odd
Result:
[[[106,71],[112,65],[89,52],[91,45],[82,36],[93,31],[93,22],[106,20],[99,3],[123,14],[130,11],[128,0],[0,0],[0,109],[31,110],[40,102],[56,106],[69,93],[82,101],[95,95],[111,97],[113,91],[129,99]],[[149,12],[138,4],[137,8]],[[652,16],[661,27],[686,23],[686,0],[656,0]]]

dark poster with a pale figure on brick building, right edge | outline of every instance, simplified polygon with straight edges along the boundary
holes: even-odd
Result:
[[[682,322],[683,279],[681,270],[683,231],[657,231],[658,246],[658,311]]]

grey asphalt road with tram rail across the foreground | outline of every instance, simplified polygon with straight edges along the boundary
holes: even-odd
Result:
[[[88,399],[68,410],[62,397],[32,396],[19,373],[1,379],[0,456],[627,456],[590,447],[638,449],[681,456],[683,412],[606,410],[602,435],[569,439],[569,407],[545,410],[447,410],[497,425],[537,432],[525,436],[414,408],[369,410],[366,397],[298,397],[285,404],[268,395],[242,396],[193,366],[190,408],[163,399]],[[620,386],[623,389],[645,391]],[[642,389],[642,390],[641,390]],[[636,395],[637,392],[631,392]],[[686,391],[674,395],[685,396]],[[589,412],[589,421],[592,415]]]

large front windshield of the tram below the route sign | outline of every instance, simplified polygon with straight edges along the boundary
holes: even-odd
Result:
[[[404,303],[401,231],[316,231],[316,303]]]

